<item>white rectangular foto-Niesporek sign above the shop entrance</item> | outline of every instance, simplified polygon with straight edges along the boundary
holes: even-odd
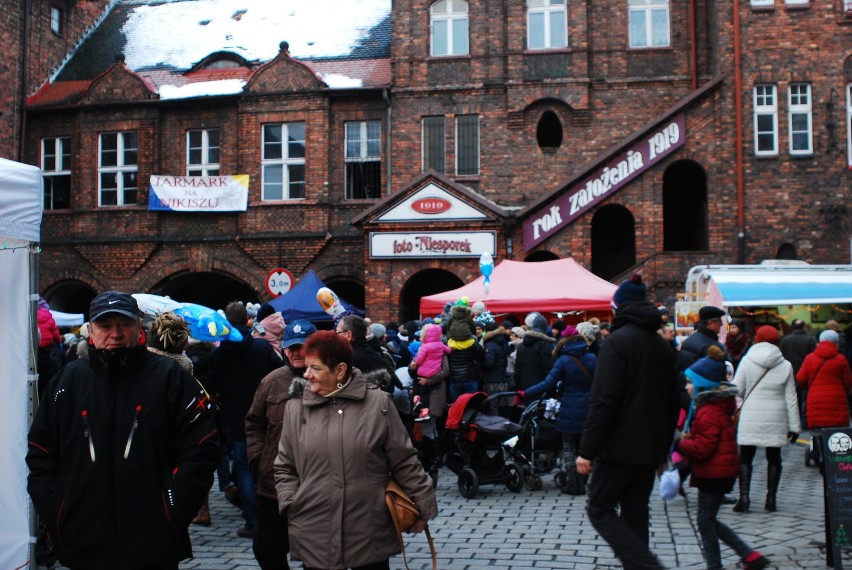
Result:
[[[476,257],[493,254],[497,246],[494,232],[410,232],[371,233],[370,257]]]

